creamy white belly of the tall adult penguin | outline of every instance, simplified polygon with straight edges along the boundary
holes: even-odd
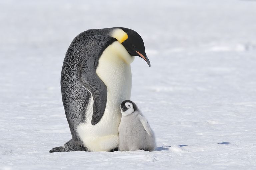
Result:
[[[110,49],[108,50],[108,48]],[[91,124],[93,113],[91,97],[86,110],[86,121],[76,129],[84,145],[90,151],[109,151],[118,147],[118,126],[122,116],[120,104],[122,101],[130,99],[131,96],[130,63],[127,63],[118,53],[113,52],[111,49],[113,46],[108,48],[102,53],[96,69],[97,75],[108,90],[105,112],[96,125]],[[129,55],[129,57],[133,60],[132,56]]]

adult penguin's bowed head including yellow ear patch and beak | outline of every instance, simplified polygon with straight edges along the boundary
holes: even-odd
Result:
[[[117,38],[117,40],[122,43],[131,56],[141,57],[150,67],[150,61],[145,52],[144,42],[136,31],[128,28],[118,27],[114,29],[113,35],[113,37]]]

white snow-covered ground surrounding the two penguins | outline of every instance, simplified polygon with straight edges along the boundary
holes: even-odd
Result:
[[[255,169],[256,1],[0,1],[0,169]],[[71,139],[60,73],[72,39],[127,27],[132,100],[156,151],[48,153]]]

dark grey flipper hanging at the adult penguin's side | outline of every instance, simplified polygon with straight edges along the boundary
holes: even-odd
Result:
[[[107,103],[107,87],[95,71],[81,67],[79,72],[80,82],[93,97],[92,125],[97,124],[102,118]]]

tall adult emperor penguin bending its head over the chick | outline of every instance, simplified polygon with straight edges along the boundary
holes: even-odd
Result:
[[[130,99],[134,56],[150,67],[141,36],[128,28],[91,29],[71,42],[62,66],[61,93],[72,139],[49,152],[118,147],[119,108]]]

